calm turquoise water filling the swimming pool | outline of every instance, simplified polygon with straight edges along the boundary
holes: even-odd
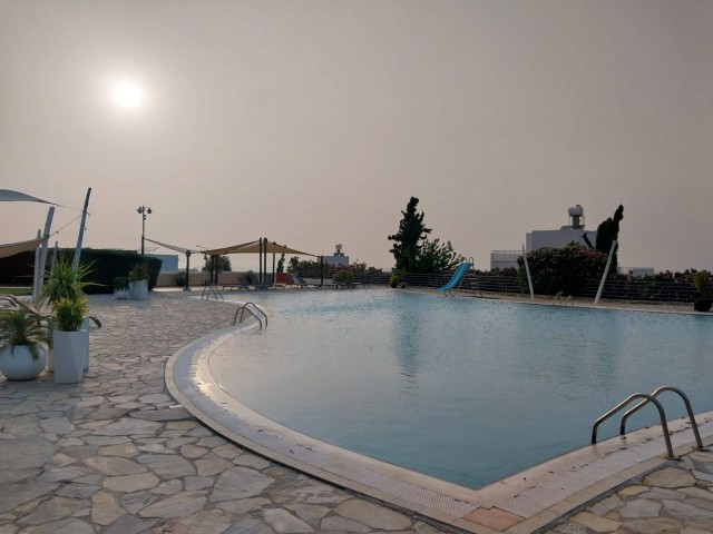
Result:
[[[480,487],[589,443],[661,385],[713,409],[711,317],[392,290],[243,294],[274,315],[216,352],[222,387],[304,434]],[[684,415],[673,394],[668,418]],[[628,428],[657,422],[653,408]],[[599,429],[616,435],[618,419]]]

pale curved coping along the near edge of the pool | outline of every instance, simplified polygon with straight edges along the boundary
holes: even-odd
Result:
[[[663,435],[661,435],[661,427],[654,426],[628,434],[625,447],[622,447],[622,439],[619,437],[613,437],[598,443],[596,446],[586,446],[580,449],[566,453],[479,490],[471,490],[450,482],[440,481],[428,475],[422,475],[403,467],[393,466],[392,464],[305,436],[279,425],[275,422],[271,422],[266,417],[243,405],[234,397],[229,397],[235,403],[235,406],[232,406],[232,408],[240,405],[237,408],[240,414],[236,414],[224,406],[218,406],[213,399],[209,399],[207,396],[203,396],[206,403],[213,404],[213,408],[215,408],[216,412],[222,411],[223,415],[229,414],[233,418],[245,418],[247,419],[247,425],[256,425],[255,427],[260,427],[260,429],[256,431],[258,433],[262,433],[263,425],[265,425],[266,422],[270,422],[270,432],[265,433],[265,435],[273,436],[274,433],[276,433],[276,439],[284,442],[277,447],[266,445],[265,443],[258,443],[258,441],[246,435],[248,433],[241,433],[231,428],[225,423],[218,421],[214,415],[207,413],[213,408],[208,407],[206,411],[205,406],[203,409],[201,406],[197,406],[196,403],[193,402],[194,399],[192,396],[196,397],[202,394],[196,394],[195,392],[193,392],[193,395],[191,393],[185,394],[180,387],[182,385],[186,386],[187,384],[195,386],[196,368],[193,366],[195,363],[194,359],[197,356],[204,356],[205,363],[205,358],[209,357],[211,353],[216,348],[216,346],[219,346],[225,340],[226,336],[232,337],[236,333],[254,328],[256,324],[251,324],[247,326],[221,328],[207,336],[195,339],[175,352],[166,362],[165,380],[168,390],[176,400],[178,400],[178,403],[188,413],[206,426],[213,428],[227,439],[261,456],[338,487],[367,495],[368,497],[382,502],[401,512],[407,512],[412,515],[416,514],[422,520],[430,520],[439,525],[456,527],[458,530],[476,534],[494,534],[497,532],[525,534],[535,532],[546,525],[558,522],[573,511],[584,506],[587,502],[597,498],[621,485],[627,484],[632,478],[642,476],[647,472],[660,468],[662,465],[674,462],[663,457]],[[201,366],[198,365],[198,367]],[[187,369],[191,369],[191,372],[186,373]],[[198,370],[201,369],[198,368]],[[203,372],[206,370],[207,369],[203,369]],[[183,375],[177,377],[176,373],[183,373]],[[203,385],[206,386],[205,383]],[[256,415],[252,421],[251,414]],[[704,444],[710,446],[713,444],[713,441],[711,439],[713,436],[713,412],[696,414],[695,417],[699,422],[701,434],[704,436]],[[705,422],[701,424],[701,421],[703,419],[705,419]],[[693,436],[692,433],[686,429],[687,423],[685,421],[686,419],[674,419],[668,423],[672,439],[675,438],[674,441],[676,442],[676,455],[686,454],[687,452],[693,451]],[[284,432],[281,432],[281,429]],[[686,434],[685,437],[684,434]],[[691,434],[691,436],[688,437],[687,434]],[[297,436],[299,439],[295,436]],[[310,453],[307,453],[310,457],[313,457],[313,454],[326,454],[333,456],[332,461],[336,458],[336,462],[340,464],[346,462],[351,467],[355,466],[354,468],[365,468],[371,471],[374,471],[375,468],[377,472],[382,469],[380,474],[383,474],[387,477],[395,477],[394,479],[401,483],[406,479],[406,484],[416,484],[417,487],[423,485],[427,492],[440,492],[446,500],[468,503],[466,508],[472,507],[472,510],[467,513],[451,513],[450,510],[445,512],[442,506],[440,507],[441,510],[437,510],[439,506],[430,507],[424,505],[422,502],[418,503],[404,497],[404,495],[399,494],[398,491],[384,491],[383,487],[375,487],[370,485],[368,482],[365,483],[363,479],[359,482],[349,476],[340,475],[333,471],[314,465],[313,463],[285,454],[285,443],[292,445],[292,448],[289,447],[290,453],[293,453],[294,451],[300,452],[306,448],[310,451]],[[315,444],[315,448],[319,448],[316,453],[310,446]],[[283,452],[279,451],[279,448],[283,448]],[[625,467],[615,471],[609,468],[606,476],[599,476],[602,474],[602,465],[598,465],[598,463],[606,463],[606,458],[615,457],[617,453],[621,454],[621,451],[628,452],[636,451],[637,448],[642,451],[634,453],[634,457],[636,458],[635,462],[632,462],[629,458],[629,462]],[[657,451],[657,453],[652,454],[653,451]],[[575,458],[578,459],[575,461]],[[330,463],[333,464],[334,462]],[[577,477],[577,472],[582,473],[587,469],[593,473],[584,475],[584,478],[583,476]],[[594,472],[597,471],[599,473],[594,474]],[[592,477],[593,474],[594,477]],[[576,483],[579,484],[579,482],[583,482],[584,487],[578,491],[565,491],[561,495],[555,492],[555,497],[558,498],[550,503],[550,501],[553,501],[553,495],[551,487],[548,487],[548,484],[551,486],[550,483],[556,481],[557,477],[566,477],[567,475],[574,475],[574,477],[577,478]],[[583,479],[579,481],[579,478]],[[520,510],[522,508],[522,503],[525,503],[525,513],[521,513]],[[446,507],[448,508],[448,506]],[[504,528],[492,528],[491,526],[495,526],[494,523],[490,523],[491,526],[488,526],[489,520],[486,518],[484,521],[478,517],[479,514],[477,512],[491,510],[500,512],[506,523],[511,522],[511,524]],[[535,510],[535,512],[528,515],[528,510]]]

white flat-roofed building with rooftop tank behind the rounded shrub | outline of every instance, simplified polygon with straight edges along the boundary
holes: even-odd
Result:
[[[569,224],[558,230],[533,230],[525,236],[525,250],[531,253],[543,247],[564,247],[570,243],[586,245],[585,236],[589,243],[597,240],[596,231],[584,229],[584,208],[580,205],[567,209]],[[492,250],[490,253],[490,269],[517,268],[517,258],[522,256],[521,250]]]

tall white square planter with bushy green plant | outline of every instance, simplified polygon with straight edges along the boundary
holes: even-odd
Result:
[[[89,332],[81,329],[86,314],[86,298],[60,298],[53,305],[56,384],[76,384],[81,380],[89,350]]]

